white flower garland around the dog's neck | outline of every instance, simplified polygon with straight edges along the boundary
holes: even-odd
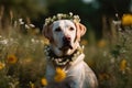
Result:
[[[76,61],[76,58],[82,54],[84,47],[77,47],[70,55],[57,56],[51,46],[45,47],[46,58],[55,66],[64,67],[70,62]]]

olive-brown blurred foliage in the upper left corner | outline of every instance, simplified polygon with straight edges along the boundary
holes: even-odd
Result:
[[[31,22],[46,13],[45,0],[0,0],[0,28],[7,29],[7,24],[21,18]]]

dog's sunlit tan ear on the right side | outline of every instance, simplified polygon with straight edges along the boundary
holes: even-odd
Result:
[[[77,29],[77,33],[76,33],[76,38],[77,41],[80,41],[80,37],[86,33],[86,26],[81,23],[75,22],[75,26]]]

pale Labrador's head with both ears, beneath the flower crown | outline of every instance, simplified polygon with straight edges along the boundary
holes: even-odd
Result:
[[[72,20],[57,20],[43,28],[44,36],[50,40],[54,53],[58,56],[74,53],[85,33],[85,25]]]

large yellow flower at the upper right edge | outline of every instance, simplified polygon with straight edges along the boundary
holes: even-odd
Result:
[[[122,24],[123,25],[132,25],[132,14],[123,14]]]

